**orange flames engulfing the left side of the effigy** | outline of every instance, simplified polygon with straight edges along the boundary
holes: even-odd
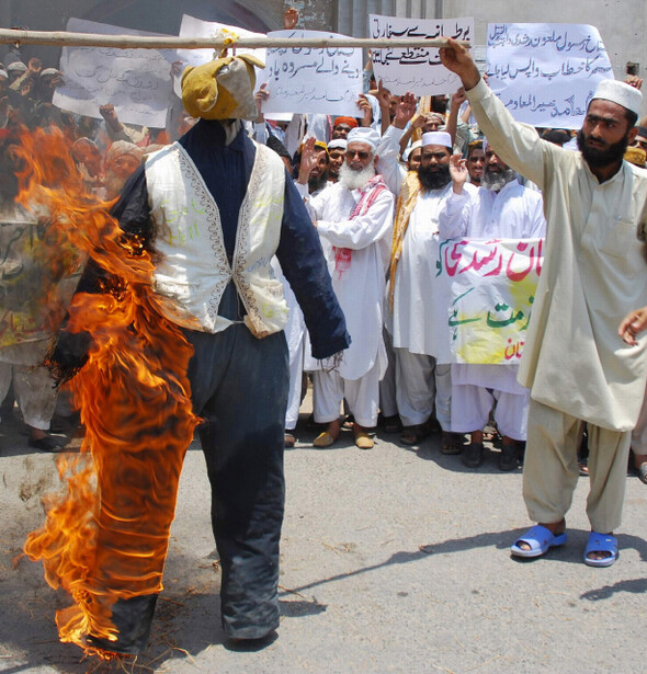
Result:
[[[60,640],[95,653],[89,635],[117,638],[114,602],[162,589],[178,482],[198,422],[186,378],[192,347],[158,311],[150,254],[124,236],[110,204],[83,193],[63,134],[25,132],[14,152],[16,201],[46,217],[46,239],[59,251],[80,251],[111,278],[102,294],[77,294],[69,308],[69,330],[92,334],[89,359],[69,384],[86,437],[80,454],[57,458],[65,492],[44,500],[45,525],[25,542],[47,583],[73,599],[57,613]],[[67,254],[56,264],[66,267]]]

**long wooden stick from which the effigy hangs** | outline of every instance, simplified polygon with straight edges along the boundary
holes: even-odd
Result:
[[[469,47],[466,41],[458,41]],[[0,44],[32,44],[56,45],[59,47],[116,47],[118,49],[223,49],[238,47],[247,49],[269,47],[367,47],[379,49],[382,47],[444,47],[446,38],[399,38],[387,39],[370,37],[240,37],[232,44],[226,44],[223,37],[172,37],[172,36],[140,36],[140,35],[102,35],[93,33],[66,33],[46,31],[16,31],[0,28]]]

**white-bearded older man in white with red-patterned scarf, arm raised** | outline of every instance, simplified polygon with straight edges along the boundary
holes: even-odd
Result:
[[[314,374],[315,421],[328,424],[315,446],[328,447],[339,437],[339,410],[345,398],[355,420],[355,445],[371,449],[367,429],[377,423],[379,380],[387,365],[382,325],[394,196],[375,171],[377,132],[354,128],[347,140],[339,182],[314,197],[303,181],[297,184],[322,239],[352,340],[339,367]],[[302,162],[309,161],[314,158],[304,150]]]

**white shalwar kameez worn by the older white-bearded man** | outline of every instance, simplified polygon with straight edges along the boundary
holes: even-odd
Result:
[[[328,423],[338,419],[345,398],[356,423],[371,427],[377,423],[379,379],[387,366],[382,327],[394,197],[385,189],[365,214],[349,219],[362,198],[362,190],[351,191],[336,183],[310,197],[305,185],[297,184],[297,189],[317,221],[332,287],[352,340],[338,368],[325,367],[314,373],[315,421]],[[337,264],[338,269],[336,248],[351,251],[350,259],[347,255],[344,262]]]

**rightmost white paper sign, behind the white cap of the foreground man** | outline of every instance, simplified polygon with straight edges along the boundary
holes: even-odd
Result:
[[[598,82],[613,78],[598,28],[570,23],[488,25],[488,83],[519,122],[580,128]]]

